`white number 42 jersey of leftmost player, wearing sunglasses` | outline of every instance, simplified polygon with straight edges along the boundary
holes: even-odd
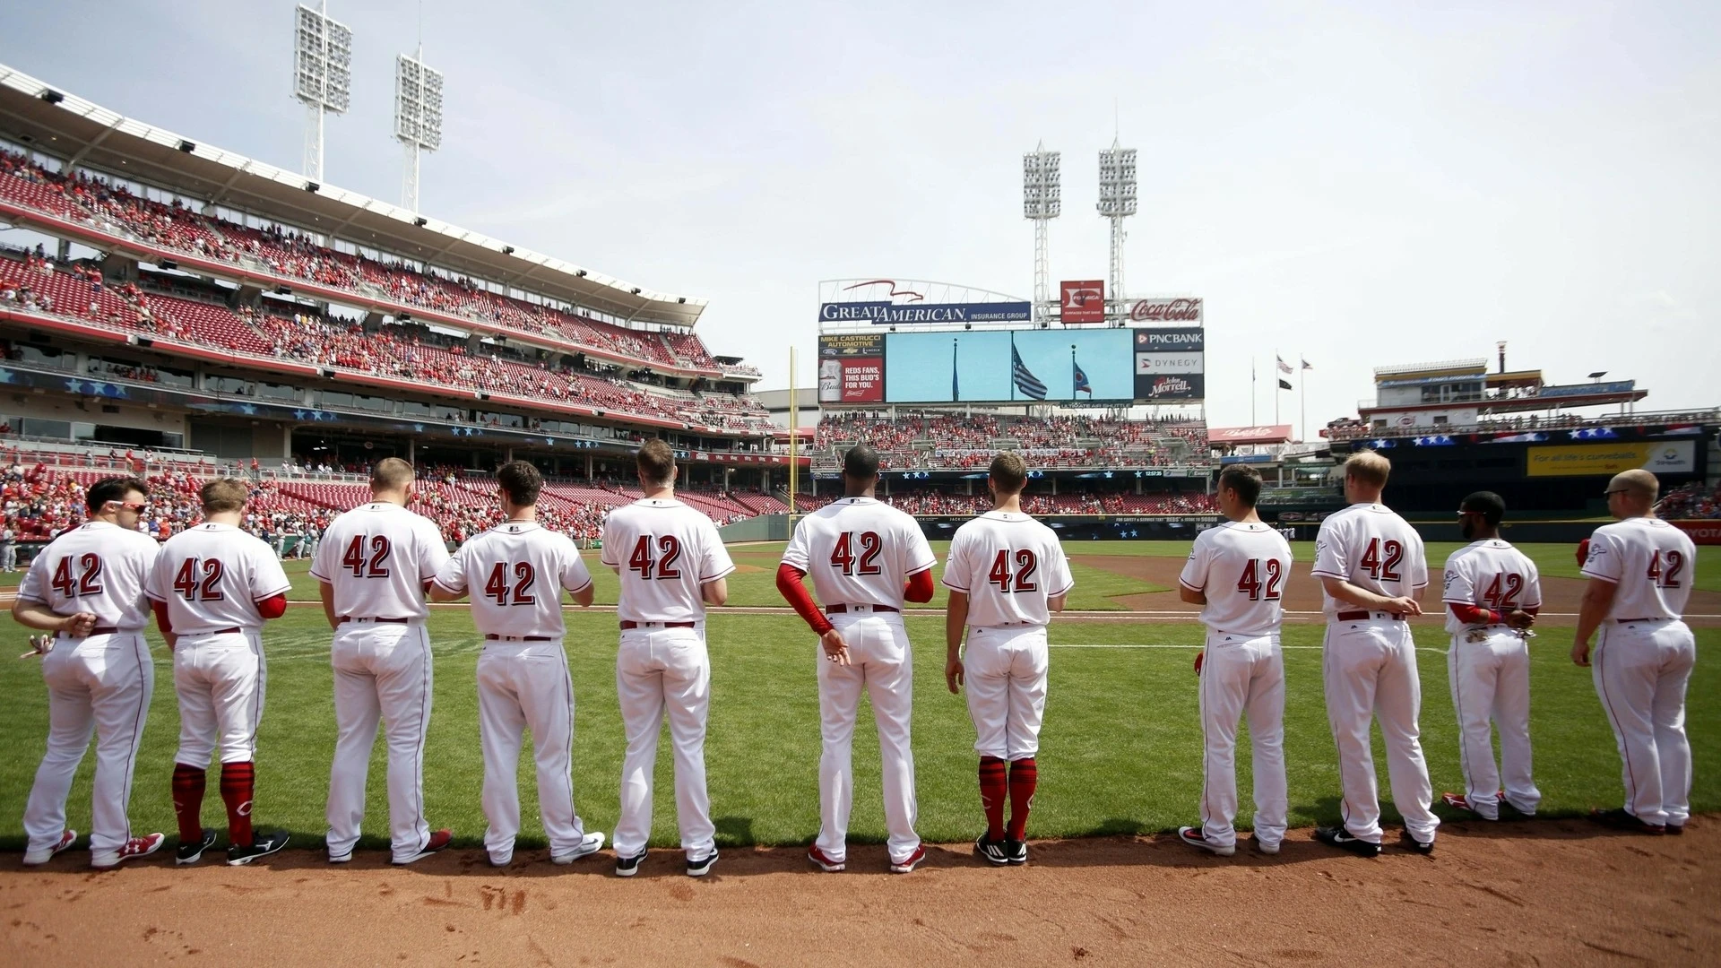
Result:
[[[136,632],[150,622],[143,589],[160,549],[148,534],[93,520],[43,548],[17,596],[57,615],[89,611],[98,629]]]

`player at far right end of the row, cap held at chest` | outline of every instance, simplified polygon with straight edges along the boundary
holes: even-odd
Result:
[[[1656,517],[1657,491],[1647,470],[1626,470],[1607,482],[1607,512],[1619,520],[1590,536],[1571,661],[1590,667],[1623,765],[1625,806],[1599,810],[1595,820],[1644,834],[1683,834],[1692,813],[1685,686],[1697,663],[1697,641],[1683,615],[1697,546]]]

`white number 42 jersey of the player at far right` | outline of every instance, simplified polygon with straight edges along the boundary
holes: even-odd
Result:
[[[1595,529],[1583,575],[1618,586],[1609,618],[1680,618],[1697,579],[1697,546],[1661,518],[1626,518]]]

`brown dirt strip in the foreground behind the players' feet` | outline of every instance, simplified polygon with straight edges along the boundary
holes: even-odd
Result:
[[[1389,830],[1389,835],[1396,834]],[[879,846],[817,873],[799,847],[726,851],[711,877],[654,851],[490,868],[451,851],[330,868],[86,854],[0,873],[10,965],[1712,965],[1721,820],[1681,837],[1585,820],[1447,823],[1434,856],[1361,859],[1292,830],[1210,858],[1172,837],[1041,842],[1022,868],[933,847],[909,875]]]

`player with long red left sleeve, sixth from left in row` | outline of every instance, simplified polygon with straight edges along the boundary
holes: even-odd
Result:
[[[843,455],[847,496],[800,518],[783,549],[778,591],[819,636],[819,839],[807,859],[826,872],[848,863],[854,801],[854,730],[860,692],[873,701],[890,870],[909,873],[922,858],[914,832],[914,656],[902,625],[904,599],[933,599],[933,549],[907,513],[873,498],[878,453],[860,444]],[[802,577],[824,611],[807,598]]]

